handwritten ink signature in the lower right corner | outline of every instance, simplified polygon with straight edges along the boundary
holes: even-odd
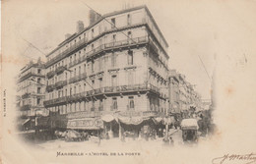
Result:
[[[224,156],[214,158],[212,160],[213,164],[224,164],[226,163],[239,163],[239,164],[252,164],[256,163],[256,154],[255,153],[249,153],[244,155],[238,155],[238,154],[224,154]]]

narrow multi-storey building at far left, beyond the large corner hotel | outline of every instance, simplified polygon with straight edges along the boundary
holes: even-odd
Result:
[[[43,106],[45,98],[44,64],[40,60],[36,63],[30,62],[21,70],[17,84],[20,128],[30,130],[34,128],[36,116],[48,114]]]

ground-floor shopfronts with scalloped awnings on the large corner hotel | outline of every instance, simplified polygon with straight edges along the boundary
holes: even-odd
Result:
[[[148,139],[163,136],[165,125],[174,123],[173,119],[167,118],[170,116],[156,111],[82,111],[67,115],[50,114],[47,119],[38,118],[37,127],[61,132],[75,130],[102,138],[144,137]]]

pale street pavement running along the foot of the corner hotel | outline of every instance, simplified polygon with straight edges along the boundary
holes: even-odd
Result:
[[[164,147],[178,147],[184,146],[182,140],[182,132],[181,130],[177,130],[175,133],[171,135],[173,139],[173,145],[168,145],[162,141],[162,137],[157,137],[154,140],[145,140],[143,138],[137,138],[133,140],[133,138],[126,138],[125,141],[121,141],[118,137],[110,138],[110,139],[100,139],[100,143],[98,143],[97,138],[90,138],[85,141],[65,141],[64,139],[54,139],[47,140],[45,142],[35,143],[34,146],[42,149],[70,149],[70,148],[116,148],[116,147],[125,147],[127,149],[135,149],[135,148],[151,148],[154,147],[156,149]],[[115,146],[113,146],[115,145]]]

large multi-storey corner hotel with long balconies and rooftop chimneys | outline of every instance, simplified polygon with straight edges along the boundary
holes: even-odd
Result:
[[[46,56],[44,106],[51,127],[116,126],[120,137],[121,130],[136,130],[129,126],[167,114],[168,44],[149,9],[91,11],[90,19]]]

